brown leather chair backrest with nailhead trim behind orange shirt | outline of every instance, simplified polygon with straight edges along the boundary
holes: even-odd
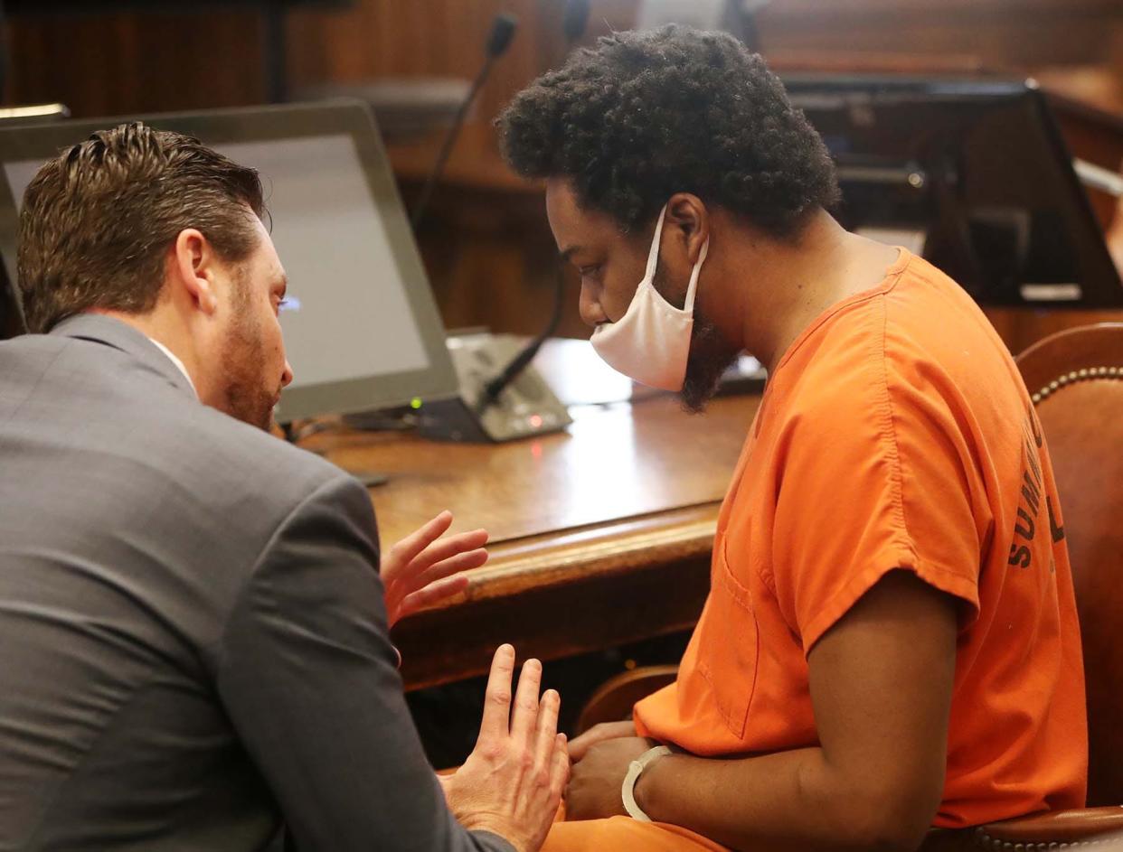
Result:
[[[1061,503],[1084,640],[1088,805],[1123,805],[1123,323],[1052,335],[1017,366]]]

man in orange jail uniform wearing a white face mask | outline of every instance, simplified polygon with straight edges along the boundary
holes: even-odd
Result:
[[[601,39],[500,129],[606,361],[691,409],[741,351],[769,375],[677,682],[572,744],[545,849],[904,851],[1080,806],[1061,507],[971,299],[836,222],[822,141],[724,35]]]

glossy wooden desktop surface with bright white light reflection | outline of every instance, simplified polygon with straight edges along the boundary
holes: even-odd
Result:
[[[386,541],[448,509],[454,529],[510,542],[720,500],[754,411],[718,401],[691,416],[658,398],[576,412],[566,432],[505,445],[344,433],[321,447],[345,469],[390,476],[373,493]]]

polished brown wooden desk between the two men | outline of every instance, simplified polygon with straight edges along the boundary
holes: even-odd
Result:
[[[573,364],[565,356],[585,369],[587,347],[557,341],[544,370],[556,387],[581,384],[559,370]],[[567,432],[517,443],[338,432],[305,446],[391,475],[372,489],[384,544],[442,509],[454,529],[492,533],[491,561],[467,594],[394,631],[407,686],[419,688],[484,672],[502,642],[520,658],[554,659],[692,626],[718,509],[758,405],[728,397],[688,415],[673,396],[637,396],[575,410]]]

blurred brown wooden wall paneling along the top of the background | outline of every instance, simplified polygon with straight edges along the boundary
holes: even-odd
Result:
[[[639,0],[596,0],[586,40],[634,22]],[[472,76],[495,12],[520,31],[482,93],[487,123],[563,58],[563,0],[358,0],[289,18],[294,86],[387,75]],[[766,53],[818,49],[978,56],[995,68],[1123,63],[1117,0],[774,0]],[[20,18],[11,24],[11,100],[63,98],[76,114],[252,103],[264,97],[253,12]],[[1112,58],[1114,57],[1114,58]]]

